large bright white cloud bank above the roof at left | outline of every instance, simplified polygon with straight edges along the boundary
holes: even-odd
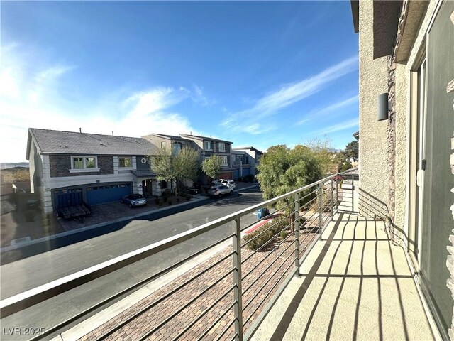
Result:
[[[7,58],[5,57],[7,54]],[[184,87],[154,87],[122,97],[70,102],[61,85],[71,65],[38,68],[10,49],[0,66],[0,145],[2,162],[24,161],[28,128],[78,131],[123,136],[154,132],[179,134],[195,131],[189,120],[172,107],[191,97]],[[6,62],[8,63],[4,63]],[[33,60],[31,58],[30,60]],[[8,90],[8,91],[3,91]],[[114,112],[112,112],[114,111]],[[9,146],[9,148],[4,148]]]

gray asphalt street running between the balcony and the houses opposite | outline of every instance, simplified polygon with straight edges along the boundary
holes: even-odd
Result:
[[[261,201],[262,193],[258,188],[252,188],[221,200],[205,201],[204,205],[176,212],[167,217],[152,214],[137,220],[102,227],[104,232],[93,231],[92,238],[84,236],[79,242],[73,241],[67,243],[65,247],[27,256],[0,266],[1,298],[8,298],[57,278],[74,274],[89,266],[172,237]],[[255,215],[247,215],[242,219],[242,226],[252,224],[255,220],[257,220]],[[177,247],[162,251],[125,269],[96,278],[60,296],[21,310],[19,313],[1,319],[1,325],[50,328],[143,278],[156,274],[167,266],[227,237],[231,234],[232,226],[233,223],[217,227]],[[15,340],[21,340],[21,338]]]

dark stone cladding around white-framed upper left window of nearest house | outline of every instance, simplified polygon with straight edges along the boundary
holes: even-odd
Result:
[[[98,156],[97,158],[99,172],[70,173],[71,156],[50,155],[50,177],[114,174],[114,158],[112,156]]]

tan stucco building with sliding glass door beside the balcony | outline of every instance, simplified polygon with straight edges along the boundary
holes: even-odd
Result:
[[[454,1],[350,3],[359,31],[359,210],[389,222],[429,320],[454,340]]]

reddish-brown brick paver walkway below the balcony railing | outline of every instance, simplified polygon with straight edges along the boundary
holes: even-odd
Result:
[[[316,233],[316,229],[301,230],[301,251],[309,246]],[[286,275],[294,271],[294,237],[277,244],[255,254],[242,248],[244,330],[270,301]],[[148,335],[146,340],[231,340],[234,336],[231,254],[232,247],[227,247],[80,340],[99,339],[149,305],[152,306],[143,314],[111,333],[106,340],[138,340],[144,335]],[[209,270],[194,279],[206,269]],[[213,285],[216,281],[219,282]],[[171,291],[175,292],[165,297]],[[214,306],[210,308],[211,305]],[[178,310],[182,311],[178,313]]]

